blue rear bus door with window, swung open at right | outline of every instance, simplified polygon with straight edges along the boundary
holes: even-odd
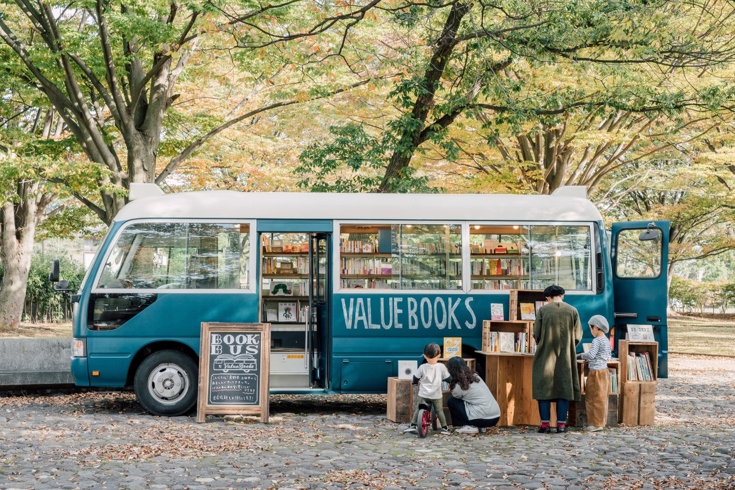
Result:
[[[668,377],[668,221],[612,224],[610,244],[615,347],[628,325],[653,325],[659,342],[659,378]]]

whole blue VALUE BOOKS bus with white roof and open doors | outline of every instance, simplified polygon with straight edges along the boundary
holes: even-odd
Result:
[[[583,324],[608,318],[616,338],[653,325],[667,376],[669,223],[606,230],[584,187],[164,194],[132,184],[129,200],[72,297],[71,369],[79,386],[133,386],[151,414],[195,405],[202,322],[272,325],[271,392],[379,393],[427,342],[461,337],[462,356],[481,362],[491,310],[508,319],[511,289],[550,284]]]

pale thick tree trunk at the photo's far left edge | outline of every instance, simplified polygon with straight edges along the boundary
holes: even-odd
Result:
[[[26,300],[37,223],[35,199],[29,198],[26,202],[27,206],[24,207],[32,209],[16,210],[12,203],[5,204],[2,209],[0,259],[4,272],[0,286],[0,330],[18,328]],[[15,223],[18,217],[16,212],[21,217],[31,219],[24,220],[22,226],[18,227]]]

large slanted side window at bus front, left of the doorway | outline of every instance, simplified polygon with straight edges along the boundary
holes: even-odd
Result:
[[[248,289],[250,227],[134,223],[112,245],[98,289]]]

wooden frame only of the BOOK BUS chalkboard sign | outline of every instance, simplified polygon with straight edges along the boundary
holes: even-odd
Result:
[[[212,333],[232,334],[235,338],[243,334],[260,334],[260,366],[259,370],[259,404],[212,404],[209,403],[210,372],[212,353]],[[223,346],[226,344],[223,343]],[[261,422],[268,422],[270,403],[270,323],[201,323],[201,340],[199,343],[199,393],[196,408],[196,421],[201,423],[207,419],[207,414],[231,415],[254,414],[259,415]]]

